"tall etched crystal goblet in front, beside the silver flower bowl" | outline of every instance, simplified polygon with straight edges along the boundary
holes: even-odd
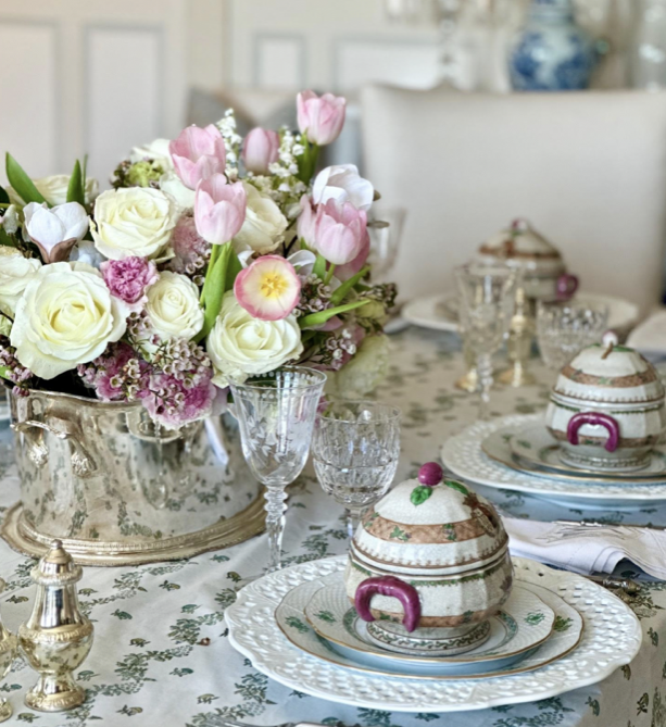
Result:
[[[301,474],[326,374],[285,366],[243,384],[230,383],[244,459],[266,488],[268,572],[279,569],[286,487]]]

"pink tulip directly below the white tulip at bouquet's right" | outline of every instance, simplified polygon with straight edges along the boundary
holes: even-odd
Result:
[[[317,208],[315,247],[334,265],[355,260],[367,235],[367,215],[351,202],[329,200]]]

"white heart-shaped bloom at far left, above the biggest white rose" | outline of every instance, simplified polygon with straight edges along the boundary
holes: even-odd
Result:
[[[88,231],[88,213],[78,202],[66,202],[49,209],[30,202],[23,210],[25,231],[41,252],[45,263],[67,260],[70,250]]]

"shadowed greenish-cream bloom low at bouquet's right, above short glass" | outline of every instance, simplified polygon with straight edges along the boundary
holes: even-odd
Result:
[[[339,372],[329,374],[327,391],[344,399],[361,399],[375,389],[389,367],[388,336],[368,336]]]

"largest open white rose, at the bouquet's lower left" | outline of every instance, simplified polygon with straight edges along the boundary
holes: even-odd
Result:
[[[125,311],[101,275],[88,265],[75,267],[40,267],[16,305],[16,358],[45,379],[92,361],[125,333]]]

